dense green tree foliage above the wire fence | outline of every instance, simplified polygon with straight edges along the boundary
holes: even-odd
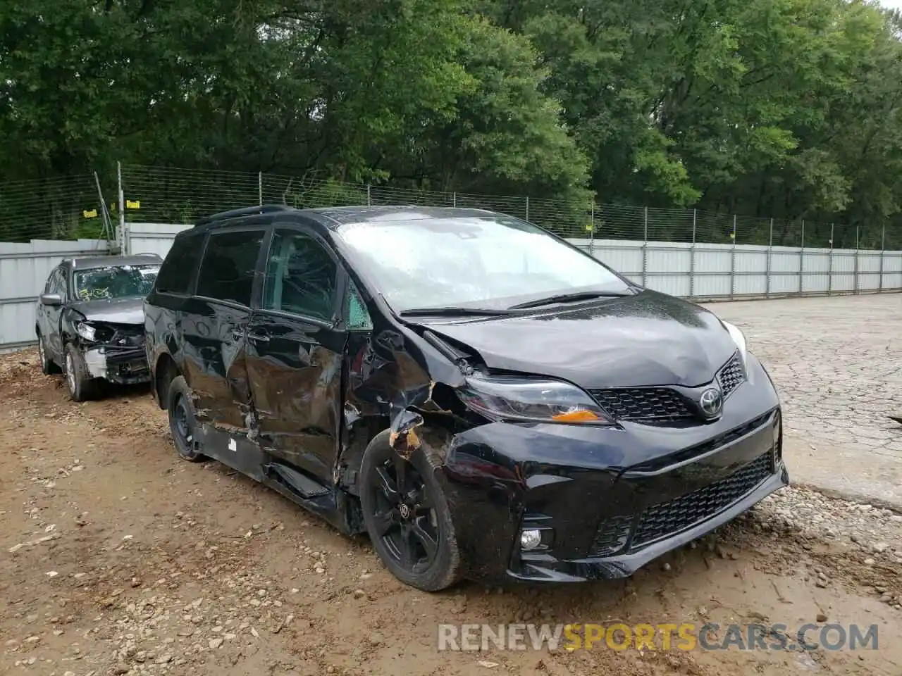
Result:
[[[861,0],[7,0],[0,180],[121,160],[902,244],[900,35]]]

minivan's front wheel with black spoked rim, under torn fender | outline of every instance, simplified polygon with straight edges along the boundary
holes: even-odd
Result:
[[[386,430],[367,446],[360,468],[360,503],[376,553],[392,575],[423,591],[461,579],[455,528],[436,478],[440,465],[428,446],[401,458]]]

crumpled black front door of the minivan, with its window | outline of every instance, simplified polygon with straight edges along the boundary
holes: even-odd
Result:
[[[341,425],[346,335],[336,324],[343,272],[326,242],[277,224],[246,334],[262,448],[327,485]]]

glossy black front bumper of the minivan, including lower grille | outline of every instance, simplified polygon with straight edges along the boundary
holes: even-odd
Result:
[[[787,486],[778,397],[757,360],[750,368],[754,384],[707,425],[492,423],[457,434],[442,481],[468,576],[628,577]]]

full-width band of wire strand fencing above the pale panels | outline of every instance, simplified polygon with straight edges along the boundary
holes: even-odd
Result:
[[[257,204],[460,206],[519,216],[559,235],[595,240],[755,244],[820,249],[902,249],[902,233],[881,225],[727,215],[545,199],[342,183],[315,172],[262,172],[126,165],[120,176],[88,174],[0,184],[0,242],[113,239],[115,223],[189,224]],[[121,195],[120,195],[121,191]]]

